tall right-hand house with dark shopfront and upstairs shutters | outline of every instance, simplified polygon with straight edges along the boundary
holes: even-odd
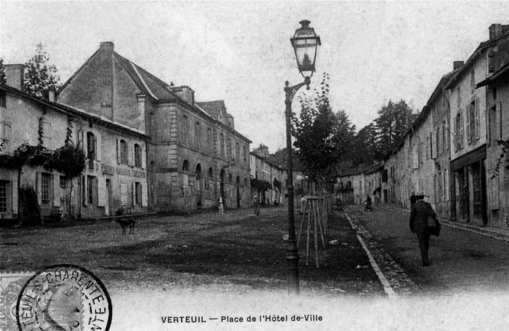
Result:
[[[509,26],[492,24],[481,43],[446,85],[450,90],[451,218],[487,224],[487,88],[484,81],[507,62]],[[496,112],[496,111],[495,111]]]

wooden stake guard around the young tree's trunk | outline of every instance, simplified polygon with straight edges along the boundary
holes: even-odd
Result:
[[[320,202],[322,201],[322,203]],[[317,268],[319,268],[319,259],[318,259],[318,231],[320,231],[321,235],[321,243],[323,244],[325,248],[325,238],[324,238],[324,231],[322,231],[322,228],[325,229],[325,225],[322,226],[324,222],[324,218],[326,218],[326,208],[323,207],[323,201],[324,198],[322,197],[306,197],[305,207],[304,207],[304,213],[302,214],[302,220],[301,220],[301,229],[298,231],[298,238],[297,238],[297,248],[299,243],[301,242],[301,235],[304,228],[304,222],[306,219],[306,213],[307,213],[307,243],[306,243],[306,265],[309,265],[309,259],[310,259],[310,237],[311,237],[311,230],[312,227],[313,233],[314,233],[314,260],[315,264],[317,265]],[[322,204],[322,207],[320,208],[320,204]],[[313,226],[311,225],[313,223]]]

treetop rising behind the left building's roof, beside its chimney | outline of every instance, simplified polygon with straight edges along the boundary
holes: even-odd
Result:
[[[37,45],[36,54],[25,63],[24,89],[27,93],[39,98],[48,98],[50,90],[60,87],[60,77],[54,65],[48,64],[50,56],[43,49],[43,44]]]

